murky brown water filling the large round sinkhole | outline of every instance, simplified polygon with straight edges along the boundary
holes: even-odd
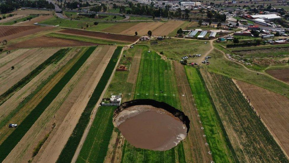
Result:
[[[187,127],[179,118],[150,105],[126,108],[116,118],[118,129],[137,148],[165,151],[187,136]]]

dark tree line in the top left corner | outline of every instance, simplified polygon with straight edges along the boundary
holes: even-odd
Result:
[[[6,14],[21,7],[33,7],[33,8],[46,8],[46,9],[54,9],[54,5],[46,0],[36,0],[36,1],[28,1],[28,0],[6,0],[5,3],[0,4],[0,12],[1,14]]]

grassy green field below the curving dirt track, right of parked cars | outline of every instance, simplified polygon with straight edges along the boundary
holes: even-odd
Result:
[[[219,46],[215,47],[221,49],[225,53],[229,53],[225,48]],[[228,61],[225,59],[224,55],[217,50],[213,50],[209,55],[212,56],[210,65],[206,66],[209,71],[260,86],[289,98],[289,87],[287,84],[275,80],[269,75],[258,75],[258,72],[249,71],[239,64]]]

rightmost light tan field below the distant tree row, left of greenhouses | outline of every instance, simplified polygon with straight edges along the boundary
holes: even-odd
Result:
[[[184,23],[184,21],[168,21],[155,30],[152,31],[152,34],[155,36],[165,36],[174,31]]]

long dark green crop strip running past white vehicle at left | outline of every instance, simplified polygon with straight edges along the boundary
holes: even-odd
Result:
[[[60,81],[49,91],[49,93],[41,100],[41,102],[27,115],[22,123],[7,137],[0,145],[0,162],[10,153],[15,145],[26,134],[38,117],[44,112],[46,107],[54,100],[62,88],[69,82],[71,77],[78,71],[86,59],[91,55],[96,47],[90,47],[73,67],[60,79]]]

